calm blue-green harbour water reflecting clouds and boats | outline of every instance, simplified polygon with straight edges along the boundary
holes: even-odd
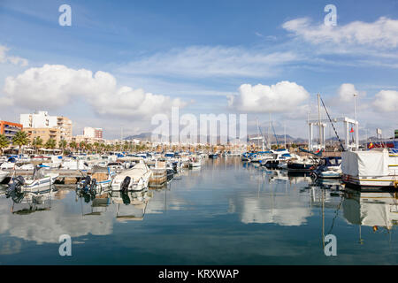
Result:
[[[0,264],[398,264],[396,195],[340,189],[220,157],[127,196],[58,186],[14,203],[0,190]],[[73,256],[59,256],[61,234]]]

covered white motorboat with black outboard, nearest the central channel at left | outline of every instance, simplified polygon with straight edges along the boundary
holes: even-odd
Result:
[[[133,168],[119,173],[111,183],[112,191],[141,191],[149,185],[152,172],[147,164],[135,164]]]

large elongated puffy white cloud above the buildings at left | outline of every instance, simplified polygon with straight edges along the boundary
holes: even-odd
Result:
[[[118,87],[111,73],[74,70],[65,65],[29,68],[4,83],[4,103],[27,109],[57,108],[82,98],[99,114],[119,117],[145,116],[183,106],[180,99],[146,93],[142,89]]]

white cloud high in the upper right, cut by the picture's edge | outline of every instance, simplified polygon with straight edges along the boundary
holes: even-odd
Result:
[[[282,25],[288,32],[315,44],[367,45],[380,49],[398,47],[398,20],[380,17],[372,23],[354,21],[336,27],[313,25],[308,18],[292,19]]]

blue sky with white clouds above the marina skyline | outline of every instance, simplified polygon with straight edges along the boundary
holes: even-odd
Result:
[[[398,129],[398,1],[1,0],[0,34],[0,119],[49,111],[113,139],[175,106],[247,114],[249,133],[271,113],[276,134],[307,138],[319,93],[350,118],[356,94],[361,137]]]

